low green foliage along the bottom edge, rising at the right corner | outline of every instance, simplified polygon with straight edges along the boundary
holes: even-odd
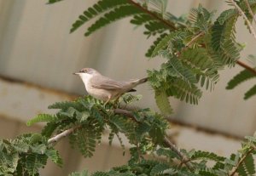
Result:
[[[141,162],[128,163],[120,167],[113,167],[108,172],[96,172],[91,175],[176,175],[176,176],[226,176],[239,175],[247,176],[255,174],[254,158],[256,138],[255,136],[247,137],[242,144],[242,149],[230,157],[217,156],[214,153],[201,150],[182,150],[183,154],[187,156],[187,161],[177,156],[177,153],[169,148],[160,148],[156,150],[157,156],[160,160],[145,160]],[[166,160],[167,159],[167,160]],[[207,164],[210,162],[211,164]],[[189,162],[191,167],[187,167],[184,163]],[[215,164],[214,164],[215,163]],[[236,170],[237,168],[237,170]]]

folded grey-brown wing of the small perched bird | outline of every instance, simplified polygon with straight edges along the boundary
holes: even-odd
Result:
[[[124,82],[117,82],[108,77],[94,77],[90,79],[91,86],[93,88],[104,88],[109,90],[121,89],[124,86]]]

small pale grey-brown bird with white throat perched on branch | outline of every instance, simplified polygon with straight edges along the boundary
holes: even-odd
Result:
[[[148,81],[148,78],[145,77],[142,79],[119,82],[109,77],[102,76],[101,73],[92,68],[84,68],[73,74],[79,75],[84,82],[87,93],[96,99],[102,99],[105,101],[104,105],[106,105],[110,100],[119,99],[122,94],[136,91],[133,88],[138,84]]]

